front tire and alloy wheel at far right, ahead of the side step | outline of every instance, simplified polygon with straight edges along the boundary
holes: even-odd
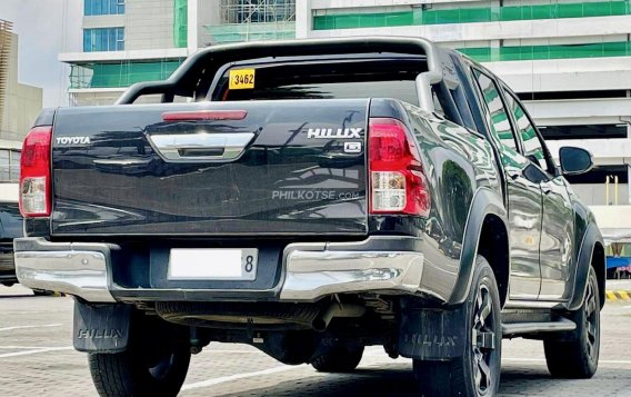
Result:
[[[591,378],[598,369],[600,355],[600,294],[595,271],[590,267],[583,305],[571,314],[577,329],[570,340],[543,340],[545,363],[553,377]]]

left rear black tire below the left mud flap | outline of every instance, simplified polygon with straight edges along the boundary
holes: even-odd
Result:
[[[89,354],[92,381],[99,396],[177,396],[184,383],[191,354],[173,346],[148,361],[147,351]]]

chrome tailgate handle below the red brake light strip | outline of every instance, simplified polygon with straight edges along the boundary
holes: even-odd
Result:
[[[196,162],[232,160],[239,157],[254,133],[153,135],[149,141],[167,161]],[[196,156],[197,153],[197,156]]]

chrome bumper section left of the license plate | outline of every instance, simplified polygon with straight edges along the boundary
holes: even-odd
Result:
[[[108,290],[107,259],[88,250],[17,251],[16,272],[26,287],[76,295],[92,302],[116,301]]]

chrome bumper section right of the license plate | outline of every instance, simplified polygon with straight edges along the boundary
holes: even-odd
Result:
[[[316,301],[362,291],[419,294],[422,274],[421,252],[296,249],[287,255],[280,299]]]

